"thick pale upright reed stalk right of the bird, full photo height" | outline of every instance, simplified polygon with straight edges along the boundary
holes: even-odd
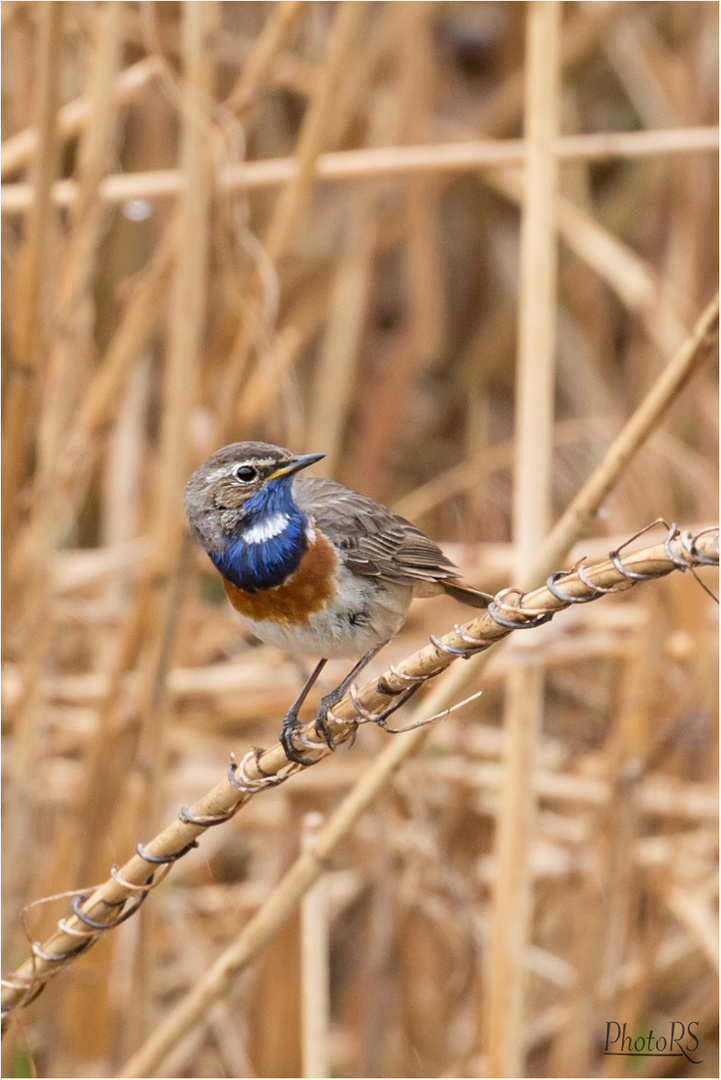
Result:
[[[513,538],[516,573],[528,573],[540,537],[550,525],[558,161],[560,3],[527,5],[523,175],[520,226],[516,465]],[[526,650],[521,650],[522,652]],[[489,987],[485,1003],[486,1054],[492,1076],[522,1076],[518,1038],[526,1012],[526,953],[531,928],[529,852],[535,819],[531,779],[541,734],[545,677],[538,658],[509,673],[504,698],[505,773],[498,822],[499,872],[493,893]]]

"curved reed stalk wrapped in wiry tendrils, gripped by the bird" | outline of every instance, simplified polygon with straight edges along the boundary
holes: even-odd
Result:
[[[545,621],[546,616],[552,618],[573,603],[589,602],[607,592],[618,591],[620,588],[631,589],[638,580],[665,577],[675,569],[717,566],[718,559],[718,530],[705,529],[692,538],[689,534],[669,529],[664,543],[625,555],[623,559],[612,553],[608,562],[563,573],[562,582],[553,583],[555,592],[545,585],[527,594],[505,590],[496,596],[495,619],[507,619],[517,629],[531,629],[540,620]],[[561,589],[567,599],[556,595]],[[515,603],[503,598],[511,593],[517,596]],[[512,632],[511,625],[501,625],[495,619],[492,613],[485,612],[446,634],[438,645],[430,644],[402,663],[393,665],[379,679],[355,692],[354,697],[348,694],[343,698],[328,723],[334,743],[339,745],[354,735],[358,724],[365,718],[358,713],[358,707],[372,714],[393,702],[409,684],[425,681],[449,667],[455,657],[446,651],[448,648],[467,649],[468,638],[472,638],[478,643],[478,651],[485,651],[506,637]],[[463,672],[460,677],[464,674]],[[422,731],[422,728],[413,731],[408,740],[420,738]],[[317,748],[313,753],[317,755],[316,761],[331,753],[325,742],[317,741],[313,723],[301,728],[300,733],[309,741],[315,741]],[[398,745],[402,746],[404,742],[406,740],[398,740]],[[403,755],[398,762],[402,759]],[[398,762],[391,766],[391,773]],[[105,930],[117,926],[119,919],[124,921],[137,910],[148,892],[166,876],[172,864],[196,846],[196,838],[205,828],[233,816],[258,791],[283,783],[304,768],[289,762],[280,743],[263,753],[248,752],[241,767],[231,765],[228,781],[218,784],[190,809],[181,810],[180,820],[146,845],[141,849],[142,854],[134,855],[120,869],[113,867],[112,876],[91,896],[73,901],[73,914],[60,920],[58,929],[42,946],[33,945],[31,959],[3,980],[3,1008],[12,1011],[17,1005],[26,1004],[62,966],[83,953]],[[239,771],[242,779],[239,779]],[[324,837],[330,833],[331,826],[332,847],[344,833],[338,832],[339,825],[334,816],[324,826]],[[329,851],[325,851],[323,858],[328,853]],[[134,903],[119,915],[128,900]],[[76,912],[80,912],[82,917]],[[111,916],[110,919],[108,915]],[[91,923],[96,924],[89,929],[87,921],[83,919],[90,919]]]

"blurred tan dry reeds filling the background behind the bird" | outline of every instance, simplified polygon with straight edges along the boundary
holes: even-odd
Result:
[[[715,293],[718,5],[4,2],[2,29],[9,971],[24,905],[104,880],[296,693],[186,539],[208,453],[325,450],[472,581],[518,580]],[[707,363],[575,555],[713,522],[717,401]],[[378,670],[462,617],[418,604]],[[305,1075],[718,1076],[717,625],[674,575],[494,651],[309,901]],[[3,1075],[114,1076],[389,738],[204,835],[18,1015]],[[300,1075],[300,928],[157,1075]],[[610,1021],[698,1021],[704,1064],[604,1057]]]

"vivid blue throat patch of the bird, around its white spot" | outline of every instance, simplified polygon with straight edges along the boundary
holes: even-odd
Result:
[[[228,538],[221,552],[210,554],[223,578],[246,593],[282,585],[308,548],[308,518],[293,501],[291,484],[291,476],[280,476],[248,499],[236,535]],[[256,543],[243,539],[254,527],[260,532],[263,525],[283,516],[287,525],[276,536]]]

